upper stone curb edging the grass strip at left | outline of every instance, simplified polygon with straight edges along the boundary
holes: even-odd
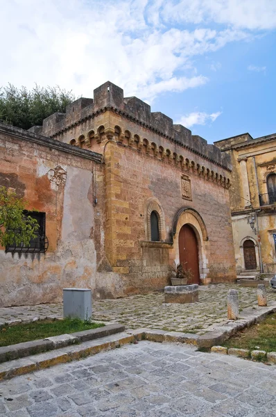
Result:
[[[71,334],[61,334],[60,336],[48,337],[36,341],[17,343],[16,345],[0,347],[0,363],[29,357],[33,354],[47,352],[49,350],[59,349],[84,341],[93,341],[97,338],[103,338],[112,334],[123,332],[125,329],[122,325],[107,325],[96,329],[84,330]]]

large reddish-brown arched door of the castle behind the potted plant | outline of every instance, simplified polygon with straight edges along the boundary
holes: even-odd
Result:
[[[180,263],[183,270],[191,269],[193,273],[193,284],[199,284],[198,239],[189,224],[184,224],[180,229],[178,244]]]

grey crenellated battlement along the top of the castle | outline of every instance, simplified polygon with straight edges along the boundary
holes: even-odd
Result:
[[[192,135],[181,124],[173,124],[163,113],[152,113],[150,106],[137,97],[123,97],[122,88],[110,81],[94,90],[94,99],[80,98],[67,106],[66,113],[54,113],[43,121],[43,126],[33,126],[30,130],[58,139],[64,132],[106,111],[117,113],[216,165],[231,169],[230,156],[218,147],[208,145],[205,139]]]

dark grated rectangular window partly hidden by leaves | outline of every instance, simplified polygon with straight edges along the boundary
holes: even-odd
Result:
[[[10,245],[6,247],[6,252],[35,252],[35,253],[44,253],[48,249],[49,243],[48,239],[45,236],[45,213],[40,213],[38,211],[24,211],[25,215],[30,215],[32,218],[37,220],[40,228],[35,231],[35,238],[31,238],[28,246],[21,245]]]

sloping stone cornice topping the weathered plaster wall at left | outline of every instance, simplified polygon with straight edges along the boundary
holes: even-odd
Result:
[[[66,152],[67,154],[72,154],[80,156],[82,158],[90,159],[92,161],[95,161],[96,163],[101,163],[101,154],[89,151],[87,149],[80,149],[78,147],[68,145],[67,143],[47,138],[46,136],[37,135],[37,133],[31,133],[29,131],[25,131],[24,129],[19,129],[18,127],[0,123],[0,134],[1,133],[13,136],[15,138],[28,140],[29,142],[35,142],[37,143],[37,145],[50,147],[51,149]]]

